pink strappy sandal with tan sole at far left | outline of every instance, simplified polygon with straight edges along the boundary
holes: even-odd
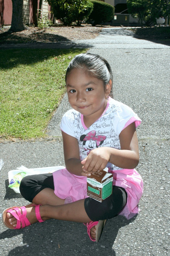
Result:
[[[5,227],[7,227],[8,229],[20,229],[21,228],[21,224],[22,224],[22,229],[24,227],[28,227],[31,225],[30,221],[28,220],[28,218],[26,217],[27,215],[27,210],[26,208],[29,208],[31,206],[35,206],[35,215],[36,218],[39,222],[43,222],[44,220],[42,220],[41,216],[40,216],[40,205],[41,204],[28,204],[26,206],[22,206],[19,207],[22,210],[19,210],[18,207],[13,206],[10,208],[7,208],[6,210],[3,211],[2,213],[2,221],[5,225]],[[6,213],[11,213],[16,219],[17,219],[17,226],[16,227],[12,227],[11,224],[9,223],[9,218],[6,217]]]

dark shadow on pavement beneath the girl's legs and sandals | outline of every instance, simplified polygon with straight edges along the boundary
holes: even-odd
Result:
[[[131,220],[123,216],[116,216],[107,221],[100,241],[92,242],[87,235],[87,228],[82,223],[70,221],[48,220],[43,223],[35,223],[21,230],[6,230],[1,233],[0,239],[11,238],[17,242],[17,236],[22,234],[23,242],[17,244],[8,255],[116,255],[112,245],[119,229],[136,219]],[[125,236],[125,235],[123,235]],[[122,242],[124,238],[122,237]],[[87,251],[88,250],[88,251]],[[45,253],[44,253],[45,252]],[[78,254],[79,255],[79,254]],[[110,254],[109,254],[110,255]]]

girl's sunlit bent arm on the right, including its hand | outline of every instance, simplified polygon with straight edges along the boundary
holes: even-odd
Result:
[[[93,149],[88,157],[81,161],[84,165],[84,173],[103,170],[108,162],[123,169],[135,168],[139,163],[139,148],[135,123],[130,124],[122,130],[119,140],[120,150],[110,147]],[[82,175],[84,174],[82,173]]]

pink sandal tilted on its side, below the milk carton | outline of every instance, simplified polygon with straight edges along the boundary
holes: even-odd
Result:
[[[87,226],[87,233],[88,233],[91,241],[99,242],[99,239],[102,235],[102,231],[103,231],[104,225],[106,224],[106,221],[107,220],[99,220],[99,221],[90,221],[87,224],[83,223],[85,226]],[[95,225],[97,225],[97,227],[96,227],[96,239],[92,238],[91,235],[90,235],[90,229],[92,227],[94,227]]]

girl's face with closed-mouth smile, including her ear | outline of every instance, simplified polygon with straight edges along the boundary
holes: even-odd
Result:
[[[74,110],[84,115],[86,120],[96,121],[106,108],[106,96],[111,90],[110,83],[103,86],[103,81],[91,77],[84,70],[74,68],[66,80],[68,101]]]

